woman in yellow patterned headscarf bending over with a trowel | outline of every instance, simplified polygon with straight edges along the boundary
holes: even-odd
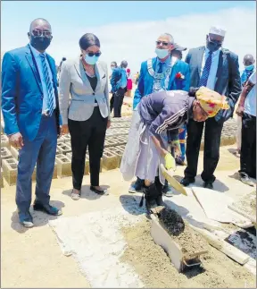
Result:
[[[220,108],[228,109],[226,97],[205,87],[190,89],[189,93],[184,90],[160,91],[142,98],[131,123],[120,172],[126,181],[134,176],[145,180],[142,191],[148,212],[163,205],[165,180],[160,165],[167,169],[175,166],[174,158],[167,150],[167,131],[178,129],[190,117],[196,122],[204,122],[215,116]]]

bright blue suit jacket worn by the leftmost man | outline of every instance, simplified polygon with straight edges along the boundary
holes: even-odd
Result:
[[[60,134],[62,120],[59,110],[56,67],[50,55],[46,54],[46,58],[53,74],[56,125],[57,133]],[[2,63],[4,132],[6,134],[21,132],[24,140],[34,140],[41,121],[42,106],[42,83],[29,45],[6,52]]]

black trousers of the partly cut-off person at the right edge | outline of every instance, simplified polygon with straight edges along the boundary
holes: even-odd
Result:
[[[242,145],[240,154],[240,174],[256,179],[256,116],[242,117]]]

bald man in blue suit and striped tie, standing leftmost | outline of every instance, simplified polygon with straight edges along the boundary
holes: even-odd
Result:
[[[36,19],[29,28],[29,45],[6,52],[2,64],[4,132],[20,149],[16,204],[21,225],[33,226],[29,213],[31,176],[37,163],[34,210],[59,216],[49,204],[57,137],[62,133],[54,59],[46,54],[52,40],[48,21]]]

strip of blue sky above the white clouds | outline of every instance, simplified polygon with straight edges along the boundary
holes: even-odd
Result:
[[[208,13],[235,6],[255,8],[255,1],[2,1],[3,30],[29,25],[37,17],[54,27],[101,26],[110,22],[154,21],[182,14]],[[129,13],[130,12],[130,13]],[[66,20],[62,22],[63,20]],[[69,20],[69,21],[68,21]]]

